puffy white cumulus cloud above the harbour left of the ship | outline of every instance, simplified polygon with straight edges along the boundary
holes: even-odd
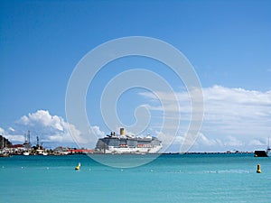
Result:
[[[91,130],[98,136],[105,134],[98,126],[91,126]],[[27,131],[31,132],[31,142],[35,144],[36,136],[39,136],[41,143],[58,146],[70,145],[92,148],[96,141],[89,140],[89,134],[81,134],[75,125],[67,123],[59,115],[51,115],[48,110],[37,110],[34,113],[23,115],[6,131],[0,128],[0,134],[13,143],[23,143]]]

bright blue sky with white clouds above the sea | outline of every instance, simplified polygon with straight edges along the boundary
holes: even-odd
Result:
[[[71,74],[100,44],[145,36],[181,51],[201,81],[204,117],[191,152],[264,150],[271,135],[270,10],[267,0],[0,1],[0,134],[23,143],[30,130],[32,143],[40,136],[45,147],[74,146],[79,141],[95,147],[97,140],[81,134],[66,118]],[[100,108],[103,90],[130,69],[156,73],[173,94],[160,92],[167,101],[163,109],[154,97],[157,92],[127,90],[116,105],[121,123],[108,129]],[[170,106],[173,95],[178,110]],[[151,115],[144,134],[160,134],[163,110],[180,113],[180,132],[167,149],[179,152],[192,106],[185,84],[171,69],[152,59],[127,57],[108,63],[89,85],[86,112],[98,137],[144,119],[134,115],[138,106]]]

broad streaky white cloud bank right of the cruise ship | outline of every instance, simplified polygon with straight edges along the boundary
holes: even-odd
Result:
[[[204,118],[201,132],[203,134],[194,144],[195,147],[209,146],[211,149],[218,146],[225,149],[231,147],[244,150],[253,149],[258,145],[257,142],[251,142],[253,139],[264,140],[270,134],[271,91],[213,86],[202,88],[202,92]],[[176,107],[171,106],[173,96],[170,93],[159,93],[166,99],[164,109],[153,93],[145,92],[140,95],[148,99],[147,105],[151,114],[163,110],[176,111]],[[185,91],[176,92],[175,95],[180,103],[182,126],[188,127],[192,110],[190,98]],[[163,116],[161,114],[161,118]],[[172,116],[172,119],[176,119],[176,117]]]

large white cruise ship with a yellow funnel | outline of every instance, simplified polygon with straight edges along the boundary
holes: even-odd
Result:
[[[162,142],[156,137],[145,137],[125,134],[125,129],[120,128],[120,134],[115,132],[104,138],[99,138],[95,151],[102,153],[157,153],[162,149]]]

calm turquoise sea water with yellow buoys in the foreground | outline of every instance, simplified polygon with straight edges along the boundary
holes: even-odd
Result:
[[[105,156],[119,158],[147,156]],[[0,167],[1,203],[271,201],[271,158],[252,154],[162,155],[131,169],[107,167],[86,155],[13,156],[0,158]]]

